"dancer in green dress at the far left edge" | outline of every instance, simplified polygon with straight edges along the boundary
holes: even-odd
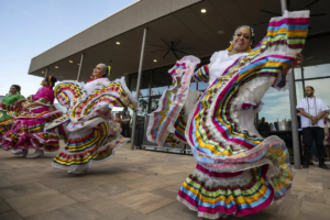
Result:
[[[13,120],[12,117],[15,114],[15,111],[12,111],[12,106],[14,106],[15,101],[24,99],[21,95],[21,87],[18,85],[12,85],[10,87],[9,94],[2,99],[0,103],[0,144],[1,144],[1,136],[8,132],[12,124]]]

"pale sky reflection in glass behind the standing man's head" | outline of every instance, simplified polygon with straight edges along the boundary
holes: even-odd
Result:
[[[311,86],[315,89],[314,96],[323,100],[327,106],[330,106],[330,78],[305,80],[305,87]]]

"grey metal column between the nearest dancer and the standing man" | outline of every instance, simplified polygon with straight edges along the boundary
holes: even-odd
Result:
[[[282,13],[284,14],[287,10],[286,0],[280,0]],[[299,136],[298,136],[298,121],[297,121],[297,96],[296,96],[296,85],[295,85],[295,73],[290,72],[289,78],[289,100],[290,100],[290,113],[292,113],[292,133],[293,133],[293,147],[294,147],[294,161],[295,168],[300,169],[300,150],[299,150]]]

